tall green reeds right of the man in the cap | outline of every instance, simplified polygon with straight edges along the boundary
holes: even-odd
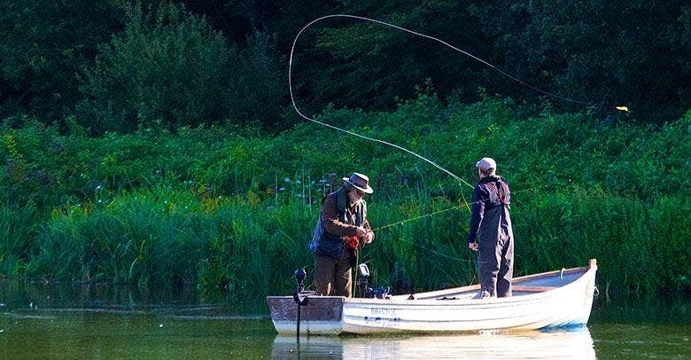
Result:
[[[513,212],[518,269],[533,273],[600,264],[613,291],[674,291],[688,286],[688,208],[675,195],[652,204],[607,192],[543,195]]]

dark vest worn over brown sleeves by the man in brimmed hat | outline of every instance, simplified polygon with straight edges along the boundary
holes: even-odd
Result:
[[[346,187],[342,187],[338,192],[331,192],[322,199],[322,206],[326,198],[329,197],[336,203],[336,210],[338,212],[338,221],[341,223],[349,223],[356,226],[363,226],[365,223],[365,216],[367,215],[367,205],[365,200],[361,200],[362,204],[355,207],[354,214],[348,209],[346,211],[346,203],[348,201],[348,193]],[[309,243],[309,249],[314,254],[321,254],[330,256],[334,259],[343,257],[345,250],[344,239],[341,236],[331,234],[326,231],[322,221],[322,213],[320,212],[317,222],[314,225],[312,232],[312,241]]]

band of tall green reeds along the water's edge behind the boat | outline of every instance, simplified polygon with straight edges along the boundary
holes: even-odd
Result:
[[[313,276],[307,244],[319,207],[293,195],[199,199],[184,189],[125,193],[101,206],[53,214],[35,240],[26,276],[49,281],[107,281],[139,286],[198,284],[238,296],[294,288],[292,273]],[[555,193],[512,207],[516,275],[601,264],[601,281],[654,291],[687,281],[688,220],[679,196],[647,206],[607,192]],[[430,215],[440,210],[448,210]],[[369,200],[377,238],[360,251],[371,283],[399,293],[476,282],[466,247],[469,212],[461,201],[432,197]],[[414,220],[410,220],[414,219]],[[665,234],[655,238],[653,234]],[[28,234],[23,235],[27,239]],[[4,254],[17,251],[4,250]]]

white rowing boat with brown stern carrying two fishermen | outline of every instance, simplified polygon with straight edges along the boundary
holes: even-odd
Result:
[[[293,296],[268,296],[267,302],[280,334],[537,330],[587,323],[596,270],[593,259],[586,267],[514,278],[508,298],[474,299],[479,290],[474,285],[386,299],[300,293],[307,299],[300,307]]]

